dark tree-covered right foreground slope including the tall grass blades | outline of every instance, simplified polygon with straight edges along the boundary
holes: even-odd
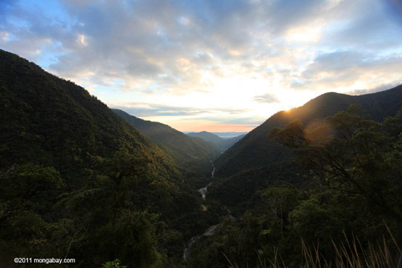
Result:
[[[396,116],[375,122],[353,104],[319,126],[294,120],[275,127],[265,139],[294,149],[309,173],[288,172],[301,179],[292,183],[277,177],[275,168],[255,174],[271,180],[259,185],[253,206],[238,212],[236,220],[228,217],[215,235],[193,247],[194,267],[401,264],[401,107]],[[244,170],[242,179],[251,171]],[[247,191],[249,185],[236,182],[231,186]]]

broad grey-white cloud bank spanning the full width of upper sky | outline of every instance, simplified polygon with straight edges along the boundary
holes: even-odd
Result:
[[[395,71],[392,66],[401,62],[402,23],[395,23],[400,5],[391,0],[60,3],[64,16],[2,1],[0,30],[13,38],[0,39],[1,47],[45,62],[50,71],[67,78],[85,76],[96,85],[121,79],[124,91],[142,90],[133,81],[151,81],[177,95],[205,91],[205,71],[224,78],[231,75],[227,66],[266,78],[281,74],[283,85],[305,90],[319,83],[342,86],[377,67]],[[396,11],[386,18],[390,8]],[[289,44],[286,35],[314,25],[322,25],[322,35],[306,41],[313,50],[310,58],[297,59],[293,54],[299,44]],[[396,48],[396,55],[384,55]],[[50,56],[43,58],[41,49]],[[286,60],[292,62],[282,63]],[[269,94],[254,100],[277,101]]]

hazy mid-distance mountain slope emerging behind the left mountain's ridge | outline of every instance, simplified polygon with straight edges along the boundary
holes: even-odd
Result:
[[[181,168],[190,169],[194,168],[194,165],[207,163],[208,173],[210,172],[209,161],[219,154],[219,149],[214,144],[197,137],[187,136],[166,124],[142,120],[122,110],[112,110],[158,144]]]

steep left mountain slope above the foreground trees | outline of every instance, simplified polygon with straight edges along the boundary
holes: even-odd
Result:
[[[91,156],[126,147],[164,177],[175,173],[165,153],[84,88],[4,51],[0,68],[1,168],[46,164],[78,180],[76,170]]]

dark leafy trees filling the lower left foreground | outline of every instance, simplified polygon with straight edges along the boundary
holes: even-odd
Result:
[[[1,259],[74,257],[91,267],[118,257],[130,267],[177,267],[185,241],[210,224],[210,211],[144,161],[125,149],[93,158],[86,184],[73,191],[43,165],[0,173]]]

